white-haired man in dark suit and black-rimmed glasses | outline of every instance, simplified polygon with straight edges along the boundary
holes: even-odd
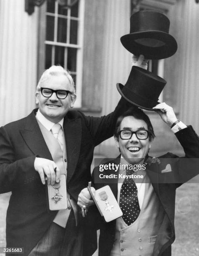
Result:
[[[139,65],[142,57],[137,59]],[[129,103],[121,99],[112,113],[94,118],[71,111],[75,100],[70,74],[52,66],[37,86],[39,108],[0,128],[0,193],[12,192],[6,218],[7,247],[23,247],[24,255],[84,253],[78,194],[91,180],[94,147],[113,136],[117,117]],[[48,185],[57,186],[60,174],[66,175],[68,208],[50,211],[45,177]]]

